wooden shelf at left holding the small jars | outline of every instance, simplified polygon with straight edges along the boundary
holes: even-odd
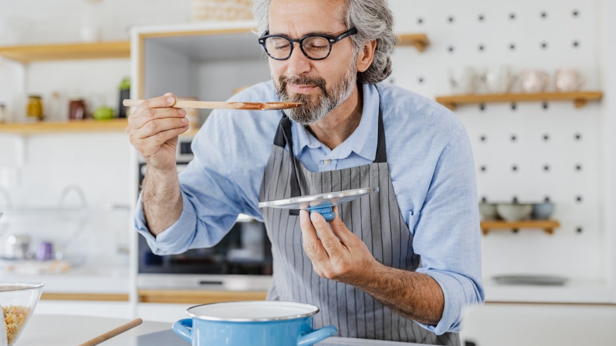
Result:
[[[128,121],[110,120],[74,120],[74,121],[38,121],[36,123],[0,124],[0,134],[36,135],[57,134],[65,132],[113,132],[124,131]]]

